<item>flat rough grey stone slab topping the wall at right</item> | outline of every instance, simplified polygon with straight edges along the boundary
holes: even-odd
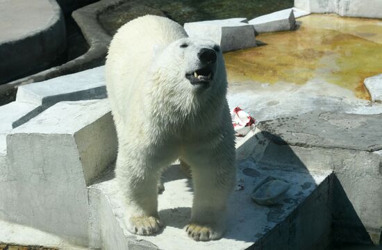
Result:
[[[353,115],[313,111],[260,122],[279,144],[377,151],[382,149],[382,115]]]

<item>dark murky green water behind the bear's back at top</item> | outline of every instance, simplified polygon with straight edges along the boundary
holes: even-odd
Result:
[[[133,0],[99,15],[99,22],[110,34],[141,15],[163,15],[179,24],[231,17],[252,19],[277,10],[291,8],[293,0]]]

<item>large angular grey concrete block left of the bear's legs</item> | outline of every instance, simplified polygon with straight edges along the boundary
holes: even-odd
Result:
[[[61,102],[7,136],[0,219],[88,244],[88,189],[115,160],[108,100]]]

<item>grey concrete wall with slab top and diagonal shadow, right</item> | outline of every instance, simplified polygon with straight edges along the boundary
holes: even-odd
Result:
[[[247,144],[256,163],[332,170],[336,242],[379,242],[382,228],[382,115],[307,113],[260,122]]]

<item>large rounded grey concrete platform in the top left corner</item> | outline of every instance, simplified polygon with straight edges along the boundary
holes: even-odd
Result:
[[[51,67],[66,49],[63,13],[53,0],[0,1],[0,30],[0,84]]]

